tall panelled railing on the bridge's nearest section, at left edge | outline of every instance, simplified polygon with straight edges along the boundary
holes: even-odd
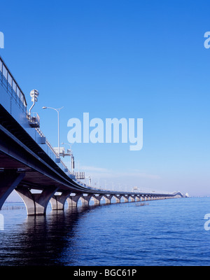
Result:
[[[27,113],[27,102],[25,99],[25,94],[20,89],[20,86],[16,82],[13,75],[8,70],[8,67],[3,62],[0,57],[0,83],[2,87],[10,94],[10,97],[15,100],[23,113]]]

